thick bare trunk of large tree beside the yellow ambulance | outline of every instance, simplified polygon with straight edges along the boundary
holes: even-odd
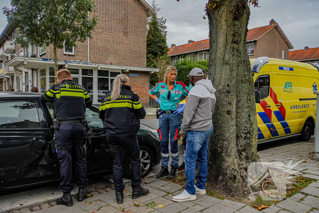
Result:
[[[241,197],[247,167],[258,161],[254,82],[246,50],[248,0],[209,0],[208,72],[216,88],[214,131],[208,151],[211,183]]]

